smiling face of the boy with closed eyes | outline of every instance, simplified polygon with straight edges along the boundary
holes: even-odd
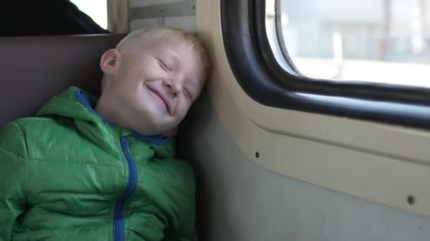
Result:
[[[110,75],[105,89],[127,109],[121,111],[129,115],[127,127],[144,135],[174,130],[204,85],[199,55],[172,39],[149,39],[117,54],[115,71],[103,71]]]

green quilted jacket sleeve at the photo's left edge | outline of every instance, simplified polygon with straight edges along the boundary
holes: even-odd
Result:
[[[11,240],[13,224],[23,213],[27,185],[27,151],[16,123],[0,130],[0,240]]]

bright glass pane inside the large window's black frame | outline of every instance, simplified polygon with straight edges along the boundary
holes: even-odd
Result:
[[[341,82],[430,87],[429,13],[430,0],[266,1],[279,63]]]

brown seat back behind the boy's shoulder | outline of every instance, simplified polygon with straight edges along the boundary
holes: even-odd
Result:
[[[100,56],[124,35],[0,37],[0,126],[70,85],[100,92]]]

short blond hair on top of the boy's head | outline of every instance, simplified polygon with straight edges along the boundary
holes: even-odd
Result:
[[[180,41],[182,44],[185,44],[185,46],[190,47],[190,49],[197,52],[204,68],[204,76],[207,75],[209,71],[209,58],[207,56],[207,51],[204,49],[202,43],[199,42],[199,39],[179,28],[143,27],[130,32],[129,35],[124,37],[124,39],[117,44],[116,49],[122,51],[125,47],[139,42],[144,42],[146,39],[170,39]]]

